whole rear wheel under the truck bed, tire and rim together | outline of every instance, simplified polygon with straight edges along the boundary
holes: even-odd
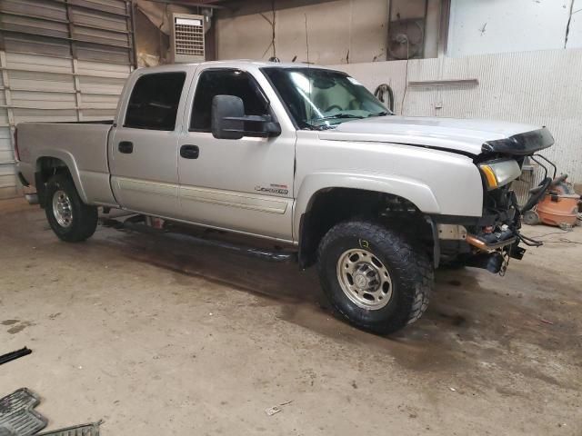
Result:
[[[46,219],[59,239],[78,243],[95,233],[97,208],[88,206],[65,174],[56,174],[46,184]]]

